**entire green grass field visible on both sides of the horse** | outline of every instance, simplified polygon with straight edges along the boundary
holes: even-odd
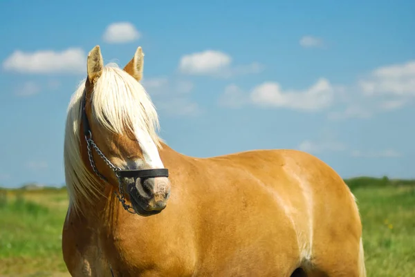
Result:
[[[415,274],[415,180],[347,180],[358,198],[368,276]],[[69,276],[61,232],[66,189],[0,190],[0,276]]]

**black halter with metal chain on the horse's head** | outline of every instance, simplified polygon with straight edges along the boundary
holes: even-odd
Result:
[[[135,211],[130,211],[132,208],[129,204],[125,203],[124,198],[124,189],[122,188],[121,178],[155,178],[155,177],[169,177],[169,170],[168,169],[133,169],[133,170],[122,170],[118,166],[113,165],[107,157],[105,157],[104,153],[98,148],[97,144],[92,140],[92,132],[91,128],[89,127],[88,117],[86,117],[85,105],[86,105],[86,90],[84,91],[84,95],[82,96],[82,125],[84,126],[84,137],[86,140],[86,149],[88,149],[88,156],[89,156],[89,163],[93,171],[95,172],[98,177],[100,177],[105,182],[108,182],[108,179],[102,175],[93,161],[92,149],[98,153],[98,155],[104,160],[104,162],[112,169],[114,174],[117,176],[118,179],[118,187],[120,193],[118,194],[117,191],[114,191],[114,194],[120,200],[122,207],[129,213],[136,213]]]

